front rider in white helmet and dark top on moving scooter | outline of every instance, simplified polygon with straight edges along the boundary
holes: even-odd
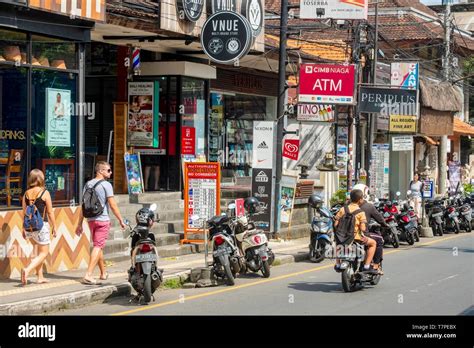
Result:
[[[375,206],[369,202],[370,190],[367,185],[357,184],[352,188],[352,190],[361,190],[364,193],[364,202],[360,205],[360,209],[365,213],[367,222],[370,222],[371,219],[374,219],[382,226],[382,228],[389,228],[382,214],[380,214],[380,212],[375,208]],[[375,250],[375,255],[373,259],[374,269],[378,270],[379,273],[383,274],[382,269],[380,269],[380,262],[382,262],[383,260],[383,236],[375,231],[367,231],[366,235],[377,242],[377,248]]]

